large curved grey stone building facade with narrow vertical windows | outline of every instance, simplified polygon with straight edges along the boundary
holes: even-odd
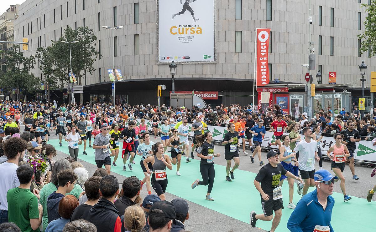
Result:
[[[217,99],[209,100],[213,104],[252,102],[255,29],[270,27],[271,81],[267,87],[287,86],[290,93],[304,92],[304,85],[296,84],[306,83],[307,70],[302,64],[308,63],[309,15],[316,54],[316,70],[310,72],[314,83],[317,70],[322,73],[322,84],[317,88],[326,91],[335,87],[336,91],[342,91],[346,87],[353,95],[360,93],[361,60],[368,65],[365,86],[369,87],[369,74],[376,71],[376,59],[367,53],[359,54],[361,41],[357,37],[363,32],[367,17],[360,2],[367,4],[368,0],[312,1],[311,14],[306,0],[214,2],[215,63],[178,62],[176,91],[217,92]],[[116,83],[117,103],[156,104],[157,85],[165,84],[167,89],[161,103],[168,104],[170,68],[158,64],[158,0],[26,0],[18,10],[14,37],[15,41],[29,39],[25,56],[35,54],[37,47],[58,41],[67,26],[73,29],[88,26],[94,31],[98,38],[96,48],[102,57],[94,63],[93,75],[87,74],[83,80],[84,102],[111,101],[107,69],[112,68],[115,52],[115,68],[121,70],[124,78]],[[115,31],[114,40],[112,32],[103,29],[103,25],[124,26],[124,29]],[[43,80],[37,65],[33,72]],[[336,72],[336,85],[329,85],[329,72]],[[274,84],[274,79],[279,79],[279,84]]]

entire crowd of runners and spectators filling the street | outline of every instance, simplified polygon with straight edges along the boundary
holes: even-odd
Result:
[[[251,162],[254,163],[257,156],[261,166],[253,183],[260,193],[260,209],[263,213],[251,212],[250,224],[253,227],[257,220],[273,220],[270,231],[275,231],[284,208],[281,186],[286,179],[289,186],[287,208],[294,209],[287,223],[288,229],[334,231],[330,222],[331,213],[326,210],[334,206],[334,199],[330,196],[333,185],[340,181],[344,201],[351,199],[346,192],[343,172],[348,163],[352,180],[359,179],[354,168],[355,145],[361,139],[372,140],[376,137],[375,121],[370,114],[359,120],[358,114],[351,116],[344,109],[335,117],[330,108],[325,111],[321,109],[315,118],[308,121],[306,113],[295,118],[284,114],[278,105],[266,112],[254,112],[251,106],[241,107],[236,104],[188,109],[165,105],[158,108],[150,104],[113,106],[111,103],[87,102],[58,106],[56,102],[3,101],[0,116],[0,152],[3,155],[0,157],[0,172],[6,172],[6,175],[0,178],[0,223],[16,227],[8,223],[9,218],[21,231],[38,231],[41,224],[44,231],[60,231],[53,230],[56,228],[62,231],[62,228],[70,226],[89,228],[91,223],[94,223],[97,231],[125,231],[124,228],[131,231],[180,231],[178,229],[184,227],[183,223],[189,217],[188,204],[183,199],[165,201],[168,185],[166,169],[176,169],[174,172],[177,176],[184,175],[180,172],[184,168],[182,157],[185,157],[186,163],[197,157],[200,160],[197,172],[200,172],[202,180],[196,179],[191,188],[208,186],[205,199],[213,201],[214,160],[226,160],[226,175],[217,175],[223,175],[226,181],[233,181],[234,173],[240,166],[239,154],[242,152],[247,155],[248,150],[251,152]],[[21,125],[24,128],[21,129]],[[221,143],[224,145],[223,156],[223,151],[217,151],[218,147],[214,151],[213,135],[208,131],[208,125],[226,127],[227,133]],[[274,145],[278,149],[270,150],[266,157],[262,157],[261,143],[267,131],[271,131],[275,137],[275,142],[268,143],[268,146]],[[68,146],[70,157],[67,160],[51,161],[56,150],[49,144],[50,132],[58,136],[59,146]],[[160,142],[153,142],[152,137],[158,140],[157,136]],[[322,169],[320,142],[323,136],[335,139],[335,144],[325,154],[331,160],[334,175]],[[63,143],[63,140],[67,143]],[[376,144],[376,139],[372,142]],[[94,149],[97,172],[100,172],[91,178],[77,162],[80,155],[88,155],[88,149]],[[111,175],[111,167],[117,166],[119,155],[123,160],[123,171],[138,168],[144,173],[140,180],[135,176],[126,178],[121,191],[118,190],[118,180]],[[45,173],[36,172],[28,161],[30,157],[39,156],[45,160]],[[318,170],[315,169],[315,162],[318,163]],[[376,169],[373,169],[371,176],[375,174]],[[144,184],[148,195],[141,202],[139,190]],[[293,202],[294,185],[297,185],[297,193],[302,195],[296,205]],[[309,191],[310,187],[315,188],[314,191]],[[25,192],[27,188],[31,191]],[[85,194],[82,194],[84,189]],[[371,202],[375,191],[376,185],[367,191],[368,202]],[[35,201],[37,198],[39,206]],[[25,200],[32,204],[17,203],[24,203]],[[312,200],[314,203],[310,204]],[[161,203],[153,204],[158,201]],[[72,205],[76,206],[68,209]],[[142,207],[128,207],[131,205]],[[22,210],[33,213],[25,215],[20,213]],[[105,220],[99,223],[99,218]],[[127,224],[128,220],[130,224]],[[161,220],[159,224],[157,220]],[[3,224],[0,224],[0,231]],[[177,225],[177,229],[171,229]]]

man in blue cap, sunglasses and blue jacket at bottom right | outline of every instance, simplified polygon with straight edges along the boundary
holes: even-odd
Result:
[[[316,189],[297,203],[287,222],[291,232],[334,232],[331,225],[334,198],[330,195],[338,177],[324,169],[315,172],[314,176]]]

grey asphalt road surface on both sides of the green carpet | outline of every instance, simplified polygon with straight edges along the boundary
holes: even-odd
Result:
[[[23,128],[21,129],[23,131]],[[55,136],[55,133],[50,133],[52,136],[50,137],[51,139],[57,139]],[[159,142],[159,137],[158,139],[153,139],[154,142]],[[88,148],[89,149],[89,148]],[[224,157],[224,146],[222,145],[215,145],[215,152],[220,153],[221,157]],[[249,154],[251,152],[247,150]],[[81,154],[80,154],[81,155]],[[58,155],[54,158],[56,160],[60,158],[65,158],[67,157],[67,154],[64,154],[63,152],[58,151]],[[262,152],[262,157],[263,161],[266,163],[267,159],[266,157],[266,152]],[[88,170],[89,176],[91,176],[97,167],[91,163],[85,162],[83,160],[78,160],[80,161],[83,166]],[[182,158],[183,161],[183,158]],[[216,159],[216,164],[226,166],[226,161],[224,158],[218,158]],[[316,162],[316,168],[318,168],[318,162]],[[243,151],[241,149],[240,151],[240,166],[239,169],[245,170],[248,172],[253,172],[253,173],[258,173],[258,170],[260,169],[261,166],[258,164],[258,158],[255,157],[255,163],[252,163],[249,155],[244,155]],[[327,170],[331,170],[331,165],[329,161],[324,161],[323,162],[323,168]],[[358,175],[359,180],[358,181],[352,181],[352,174],[350,172],[349,166],[347,165],[345,170],[344,170],[344,177],[346,178],[346,191],[347,194],[350,196],[356,196],[356,197],[361,197],[365,198],[367,195],[367,190],[370,189],[373,184],[376,183],[375,180],[373,180],[370,176],[371,168],[367,166],[355,166],[355,171],[356,175]],[[117,176],[119,182],[123,182],[124,176],[125,175],[119,175],[117,173],[113,173],[115,176]],[[124,174],[127,174],[124,172]],[[225,173],[216,173],[217,175],[223,175],[223,178],[225,178],[226,174]],[[120,185],[121,188],[121,185]],[[335,184],[334,191],[341,193],[340,185]],[[146,186],[144,186],[143,190],[141,190],[141,197],[144,198],[147,195],[147,190]],[[170,193],[166,193],[167,200],[172,200],[174,198],[179,198],[179,196],[175,196]],[[234,200],[236,199],[235,197],[229,197],[229,200]],[[374,198],[376,199],[376,198]],[[240,199],[244,200],[244,199]],[[249,231],[249,232],[260,232],[260,231],[265,231],[259,228],[252,228],[250,224],[244,223],[243,221],[237,220],[235,218],[229,217],[227,215],[221,214],[217,211],[214,211],[212,209],[208,209],[204,206],[198,205],[196,203],[188,201],[189,204],[189,213],[190,213],[190,218],[189,220],[186,220],[185,222],[185,229],[188,231],[208,231],[208,232],[219,232],[219,231]],[[261,203],[260,207],[258,209],[250,209],[249,211],[255,210],[256,212],[261,211]],[[281,222],[280,226],[285,225],[286,222]],[[271,225],[271,223],[270,223]]]

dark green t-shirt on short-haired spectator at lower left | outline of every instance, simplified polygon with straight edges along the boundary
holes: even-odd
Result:
[[[29,189],[12,188],[6,194],[8,201],[8,219],[20,227],[23,232],[39,232],[33,230],[30,219],[39,218],[38,198]]]

